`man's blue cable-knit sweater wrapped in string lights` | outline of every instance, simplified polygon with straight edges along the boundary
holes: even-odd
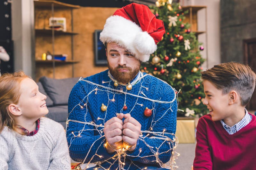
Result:
[[[177,117],[175,91],[164,81],[149,74],[143,73],[143,75],[131,90],[126,90],[122,85],[114,86],[114,82],[108,77],[108,70],[76,83],[68,99],[67,139],[73,160],[83,162],[85,159],[85,163],[98,162],[106,169],[118,167],[118,160],[112,159],[115,153],[108,154],[104,147],[105,137],[103,136],[104,123],[115,117],[116,113],[130,113],[140,122],[141,131],[162,132],[165,129],[165,132],[175,133]],[[170,101],[173,102],[170,103]],[[101,110],[102,103],[107,106],[106,111]],[[123,110],[124,103],[127,110]],[[144,116],[146,107],[153,109],[150,117]],[[159,167],[154,154],[157,151],[156,147],[159,148],[158,153],[161,153],[157,156],[163,163],[170,160],[172,155],[170,147],[173,145],[170,145],[169,141],[152,138],[155,135],[151,133],[146,136],[147,134],[142,133],[139,139],[143,140],[137,141],[133,152],[127,151],[126,156],[121,156],[121,161],[125,160],[124,169],[137,169],[145,165]],[[172,135],[164,135],[173,139]],[[109,159],[107,162],[104,161],[107,159]]]

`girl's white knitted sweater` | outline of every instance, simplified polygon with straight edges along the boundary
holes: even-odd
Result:
[[[8,127],[0,134],[1,170],[70,170],[68,144],[63,126],[49,118],[40,118],[33,136],[20,135]]]

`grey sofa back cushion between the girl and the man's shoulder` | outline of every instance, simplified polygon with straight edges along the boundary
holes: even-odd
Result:
[[[79,77],[68,79],[52,79],[41,77],[39,81],[44,86],[44,90],[51,97],[54,105],[67,105],[70,91],[75,86]]]

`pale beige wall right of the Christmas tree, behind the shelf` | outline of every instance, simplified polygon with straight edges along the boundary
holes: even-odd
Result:
[[[204,70],[219,64],[220,60],[220,0],[180,0],[182,6],[196,5],[207,6],[197,12],[198,31],[206,31],[198,36],[199,42],[203,43],[202,57],[206,59],[203,64]],[[207,16],[207,18],[205,18]],[[222,15],[221,15],[222,17]]]

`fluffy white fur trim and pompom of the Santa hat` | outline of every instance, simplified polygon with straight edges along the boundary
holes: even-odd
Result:
[[[103,43],[115,42],[125,47],[142,62],[148,61],[150,54],[154,53],[157,48],[148,32],[142,32],[136,23],[118,15],[110,16],[106,20],[100,33],[100,40]]]

